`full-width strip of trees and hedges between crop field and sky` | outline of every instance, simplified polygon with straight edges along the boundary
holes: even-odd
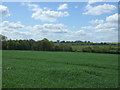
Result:
[[[81,44],[86,43],[86,44]],[[106,45],[106,46],[104,46]],[[2,47],[2,48],[1,48]],[[81,48],[81,50],[79,50]],[[68,52],[90,52],[90,53],[113,53],[120,54],[119,44],[107,45],[106,43],[92,43],[90,41],[35,41],[29,40],[7,40],[6,36],[0,35],[0,49],[2,50],[34,50],[34,51],[68,51]]]

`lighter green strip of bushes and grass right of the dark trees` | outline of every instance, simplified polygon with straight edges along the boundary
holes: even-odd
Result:
[[[72,45],[73,51],[120,54],[117,45]]]

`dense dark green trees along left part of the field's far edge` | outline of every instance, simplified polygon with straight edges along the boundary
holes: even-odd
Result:
[[[44,38],[43,40],[4,40],[3,50],[35,50],[35,51],[73,51],[70,45],[54,44]]]

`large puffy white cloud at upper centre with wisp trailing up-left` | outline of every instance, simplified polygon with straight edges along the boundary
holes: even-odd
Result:
[[[61,12],[61,11],[54,11],[54,10],[45,9],[45,8],[42,9],[38,5],[31,4],[31,3],[27,3],[24,5],[27,5],[32,11],[34,11],[31,17],[36,20],[41,20],[46,22],[55,22],[60,17],[69,16],[69,13],[66,11]]]

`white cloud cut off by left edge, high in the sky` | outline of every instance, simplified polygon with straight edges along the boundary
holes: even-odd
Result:
[[[10,16],[8,7],[0,5],[0,18],[4,18],[6,16]]]

